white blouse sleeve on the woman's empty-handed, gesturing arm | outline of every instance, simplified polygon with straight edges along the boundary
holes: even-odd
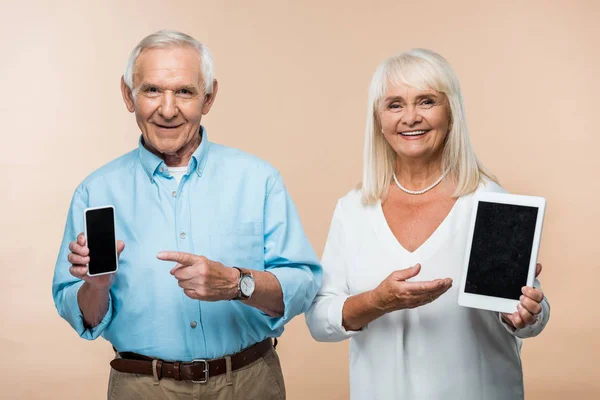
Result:
[[[347,331],[342,325],[344,303],[350,297],[347,254],[340,202],[333,213],[327,243],[323,251],[323,286],[313,301],[306,323],[311,335],[320,342],[339,342],[367,329]]]

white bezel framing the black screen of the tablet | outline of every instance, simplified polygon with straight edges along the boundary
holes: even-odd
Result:
[[[533,286],[535,280],[535,269],[542,237],[542,225],[544,223],[544,212],[546,210],[546,199],[536,196],[523,196],[517,194],[482,192],[475,194],[475,205],[471,214],[471,223],[469,226],[469,236],[465,249],[463,275],[458,292],[458,304],[463,307],[479,308],[483,310],[513,313],[517,311],[519,300],[505,299],[501,297],[491,297],[480,294],[466,293],[467,272],[469,269],[469,258],[471,256],[471,245],[473,243],[473,233],[475,231],[475,219],[477,210],[481,201],[489,203],[513,204],[519,206],[537,207],[538,214],[533,235],[533,246],[531,248],[531,258],[529,259],[529,269],[527,272],[527,286]]]

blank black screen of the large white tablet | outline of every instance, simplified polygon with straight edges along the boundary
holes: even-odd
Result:
[[[465,292],[519,300],[537,215],[537,207],[479,202]]]

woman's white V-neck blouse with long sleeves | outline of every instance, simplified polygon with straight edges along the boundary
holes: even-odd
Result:
[[[495,183],[480,191],[504,192]],[[522,399],[521,340],[539,334],[550,316],[514,331],[492,311],[457,303],[473,195],[460,197],[437,230],[414,252],[390,230],[381,204],[365,206],[355,190],[339,200],[323,253],[323,286],[306,321],[318,341],[350,339],[350,397],[387,399]],[[395,311],[362,330],[346,331],[346,299],[374,289],[395,270],[421,264],[413,281],[453,279],[430,304]],[[539,281],[535,282],[540,287]]]

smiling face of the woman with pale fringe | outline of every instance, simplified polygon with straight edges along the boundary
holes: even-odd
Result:
[[[378,113],[383,135],[400,159],[430,161],[441,155],[450,129],[443,93],[393,86],[379,102]]]

